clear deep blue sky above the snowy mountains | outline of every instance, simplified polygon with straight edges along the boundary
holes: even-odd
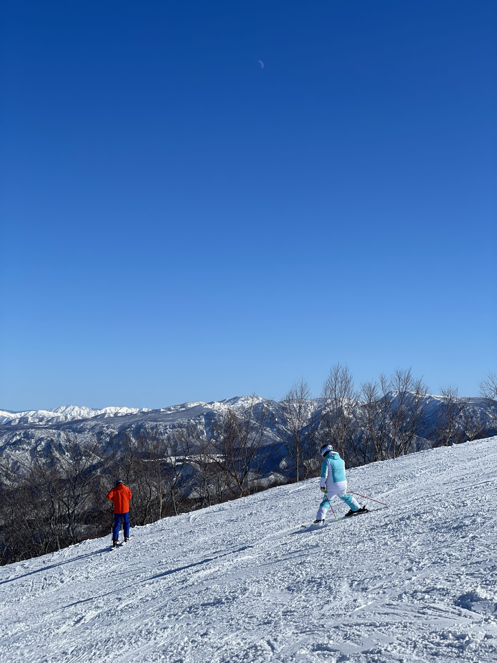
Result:
[[[497,3],[4,5],[0,408],[496,361]],[[258,65],[264,62],[264,68]]]

